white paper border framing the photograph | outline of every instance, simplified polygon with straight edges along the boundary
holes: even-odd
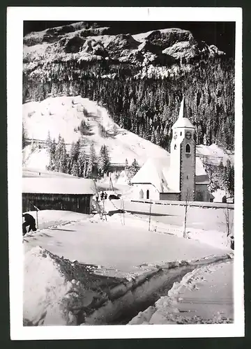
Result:
[[[22,54],[23,22],[28,20],[235,22],[235,209],[234,323],[221,325],[104,325],[23,327],[22,234]],[[189,21],[188,21],[189,19]],[[7,8],[8,226],[10,337],[39,339],[138,339],[244,336],[243,154],[242,154],[242,8]],[[15,207],[15,209],[11,209]]]

